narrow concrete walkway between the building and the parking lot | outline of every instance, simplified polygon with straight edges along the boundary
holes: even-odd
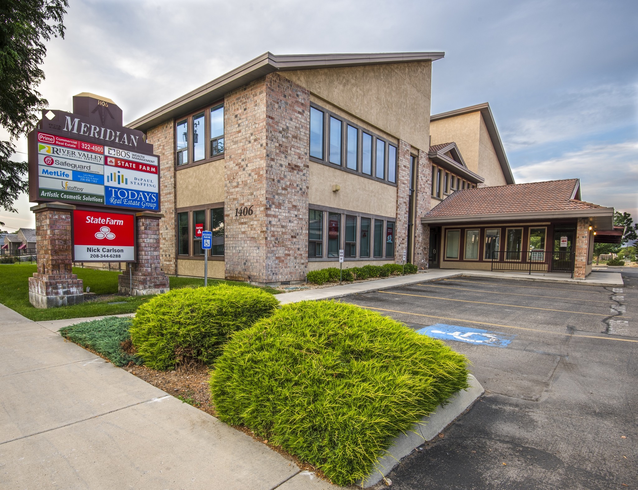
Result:
[[[296,303],[304,300],[329,300],[341,298],[343,296],[357,295],[359,293],[369,293],[379,289],[389,287],[408,286],[418,282],[431,280],[450,279],[451,277],[491,277],[493,279],[517,279],[517,280],[537,280],[544,282],[558,282],[563,284],[584,284],[587,286],[611,286],[622,287],[623,277],[619,272],[592,272],[585,279],[571,279],[568,274],[539,274],[526,272],[491,272],[468,269],[430,269],[411,275],[399,275],[388,277],[387,279],[368,280],[364,282],[352,282],[341,284],[341,286],[322,287],[320,289],[304,289],[293,293],[283,293],[277,295],[277,299],[282,305]]]

